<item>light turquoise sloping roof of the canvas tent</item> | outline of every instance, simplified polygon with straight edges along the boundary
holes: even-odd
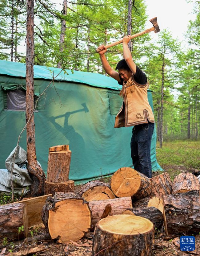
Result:
[[[52,80],[61,71],[61,68],[49,68],[45,66],[34,65],[34,78]],[[97,73],[66,70],[67,74],[62,71],[55,80],[66,81],[71,83],[86,84],[94,87],[108,88],[113,90],[121,90],[122,86],[111,77]],[[26,64],[0,60],[0,74],[7,76],[26,77]]]

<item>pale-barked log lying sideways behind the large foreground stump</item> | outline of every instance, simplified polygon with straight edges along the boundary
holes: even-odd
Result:
[[[92,226],[103,217],[103,213],[107,205],[111,206],[110,215],[122,214],[127,208],[132,208],[131,197],[121,197],[109,200],[90,201],[89,206],[92,211]]]

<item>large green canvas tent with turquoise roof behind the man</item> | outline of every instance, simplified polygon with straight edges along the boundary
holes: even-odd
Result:
[[[37,97],[61,69],[34,66]],[[26,66],[0,60],[0,168],[16,146],[25,124]],[[86,182],[110,175],[120,167],[132,167],[130,139],[133,127],[114,128],[121,107],[121,85],[97,73],[63,71],[38,101],[34,113],[37,159],[46,172],[49,147],[69,144],[72,151],[70,179]],[[151,91],[148,100],[153,109]],[[26,131],[20,144],[26,150]],[[151,143],[153,171],[162,170],[156,160],[156,129]]]

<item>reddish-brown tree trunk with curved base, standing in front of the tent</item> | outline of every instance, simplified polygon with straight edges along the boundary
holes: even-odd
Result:
[[[26,122],[34,111],[34,0],[27,1],[26,19]],[[34,114],[26,126],[28,172],[33,183],[31,196],[44,193],[45,174],[37,163]]]

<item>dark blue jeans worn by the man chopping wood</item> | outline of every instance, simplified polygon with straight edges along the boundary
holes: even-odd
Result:
[[[136,125],[132,131],[130,141],[131,158],[136,171],[152,177],[151,170],[151,138],[154,132],[154,123]]]

